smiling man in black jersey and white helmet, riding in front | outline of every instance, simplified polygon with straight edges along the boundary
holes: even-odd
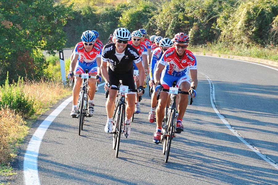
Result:
[[[106,101],[107,123],[104,131],[112,133],[114,103],[117,91],[111,89],[111,86],[118,87],[122,80],[123,85],[127,85],[129,89],[134,89],[133,79],[133,62],[139,70],[140,86],[137,88],[137,93],[141,96],[144,93],[144,67],[141,62],[138,51],[128,44],[131,37],[130,32],[126,28],[118,28],[114,31],[116,43],[110,43],[104,46],[101,57],[101,73],[106,82],[104,89],[109,89],[109,95]],[[107,64],[108,62],[108,64]],[[107,68],[108,66],[108,68]],[[126,98],[126,118],[124,130],[127,138],[130,136],[130,119],[135,108],[135,92],[129,92]]]

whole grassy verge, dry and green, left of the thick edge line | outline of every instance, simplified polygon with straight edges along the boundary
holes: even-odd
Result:
[[[2,91],[1,91],[2,89]],[[71,88],[64,86],[61,80],[30,81],[19,80],[15,84],[5,84],[0,88],[0,103],[3,102],[3,93],[8,93],[5,98],[19,97],[18,99],[8,99],[11,103],[15,101],[25,101],[32,103],[34,114],[23,117],[18,111],[10,109],[9,105],[0,109],[0,176],[15,175],[10,165],[16,156],[18,147],[28,134],[29,128],[36,119],[61,98],[70,95]],[[1,105],[1,104],[0,104]],[[0,178],[1,179],[1,178]],[[6,183],[0,180],[0,185]]]

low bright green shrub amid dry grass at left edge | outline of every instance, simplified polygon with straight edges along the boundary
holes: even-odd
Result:
[[[23,80],[19,78],[15,84],[9,84],[9,73],[7,72],[7,78],[5,85],[2,85],[0,107],[9,108],[15,110],[24,118],[29,118],[35,114],[33,107],[34,100],[30,100],[23,92]]]

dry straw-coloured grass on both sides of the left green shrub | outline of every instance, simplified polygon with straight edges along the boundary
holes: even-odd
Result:
[[[30,100],[34,100],[35,116],[44,113],[59,99],[70,94],[71,89],[64,87],[61,82],[28,81],[20,84],[23,92]],[[1,101],[0,92],[0,101]],[[28,125],[22,117],[10,109],[0,110],[0,163],[6,163],[16,156],[16,146],[28,133]]]

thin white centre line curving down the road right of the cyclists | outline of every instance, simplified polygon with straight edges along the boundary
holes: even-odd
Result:
[[[241,60],[240,60],[241,61]],[[200,72],[201,73],[201,72]],[[257,155],[259,155],[263,160],[271,164],[274,168],[278,169],[278,165],[275,161],[273,161],[271,158],[267,157],[265,154],[261,153],[255,146],[252,146],[249,142],[247,142],[242,136],[230,125],[230,123],[225,119],[225,117],[218,111],[216,107],[216,101],[215,101],[215,93],[214,93],[214,86],[212,81],[209,79],[208,76],[206,76],[204,73],[201,73],[204,75],[209,83],[210,86],[210,102],[211,105],[217,114],[217,116],[221,119],[221,121],[228,127],[228,129],[236,136],[240,141],[242,141],[245,145],[247,145],[251,150],[253,150]]]

